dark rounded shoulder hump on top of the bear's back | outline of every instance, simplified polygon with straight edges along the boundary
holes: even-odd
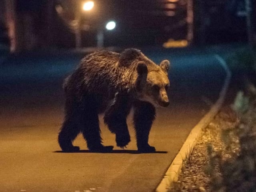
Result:
[[[136,60],[141,56],[141,52],[138,49],[126,49],[124,50],[119,58],[119,65],[120,66],[130,66],[131,62]]]

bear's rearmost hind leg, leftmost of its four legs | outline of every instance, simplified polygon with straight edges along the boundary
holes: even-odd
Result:
[[[59,132],[58,142],[60,144],[60,148],[64,152],[77,152],[79,151],[78,146],[73,146],[72,142],[76,138],[76,136],[80,133],[77,124],[74,120],[70,118],[66,118],[64,123],[62,124],[62,128]]]

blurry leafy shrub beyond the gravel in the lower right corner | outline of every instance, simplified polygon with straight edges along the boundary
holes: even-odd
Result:
[[[214,191],[254,192],[256,191],[256,98],[238,92],[233,109],[240,116],[240,122],[232,130],[223,130],[222,140],[225,150],[233,154],[225,158],[222,151],[218,156],[208,152],[211,166],[219,167],[219,173],[213,173]],[[238,137],[240,152],[232,152],[232,138]],[[212,168],[213,169],[213,168]]]

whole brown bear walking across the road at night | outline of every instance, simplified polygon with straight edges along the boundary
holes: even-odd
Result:
[[[154,152],[148,135],[155,118],[155,106],[169,104],[166,90],[170,86],[164,60],[156,65],[140,50],[126,49],[121,54],[97,51],[82,59],[78,68],[64,82],[65,118],[58,136],[64,152],[76,152],[72,142],[82,132],[92,152],[111,152],[103,146],[98,114],[116,134],[117,146],[130,142],[126,117],[134,108],[134,128],[138,152]]]

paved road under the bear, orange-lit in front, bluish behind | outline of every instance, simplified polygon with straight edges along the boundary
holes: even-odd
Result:
[[[132,121],[126,150],[90,153],[79,136],[78,153],[62,153],[57,142],[63,118],[63,78],[80,54],[26,54],[0,65],[0,189],[6,192],[154,191],[190,130],[218,98],[225,78],[213,54],[149,51],[153,61],[172,62],[168,108],[158,108],[149,143],[156,153],[137,154]],[[102,122],[105,145],[114,135]]]

